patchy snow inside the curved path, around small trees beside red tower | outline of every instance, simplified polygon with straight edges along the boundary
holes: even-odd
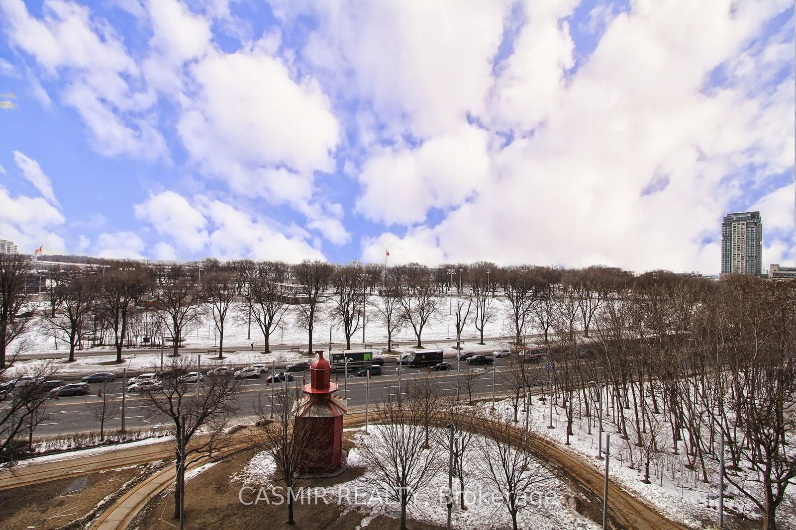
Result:
[[[371,426],[370,437],[377,436],[380,428],[378,425]],[[364,438],[365,434],[361,432],[361,429],[346,431],[357,431],[355,436],[357,443],[368,439]],[[483,438],[474,437],[471,443],[480,442],[483,442]],[[444,450],[442,446],[434,446],[431,451],[435,452],[433,458],[439,462],[447,462],[447,450]],[[349,451],[347,463],[350,468],[367,467],[361,452],[356,447]],[[455,503],[452,513],[453,527],[464,530],[511,528],[509,512],[505,506],[494,499],[494,496],[498,495],[494,491],[494,486],[479,478],[478,473],[474,473],[473,462],[469,462],[466,466],[471,468],[469,471],[470,481],[466,485],[468,509],[462,511]],[[275,465],[270,454],[263,451],[256,454],[248,466],[234,475],[232,480],[253,486],[255,489],[259,489],[260,486],[267,489],[271,485],[271,475],[274,471]],[[347,505],[349,509],[363,509],[368,512],[362,521],[362,528],[365,528],[369,521],[376,516],[397,518],[400,509],[399,505],[388,501],[383,492],[373,488],[372,482],[369,483],[367,480],[368,473],[371,472],[366,470],[363,476],[334,485],[321,494],[327,501],[339,501],[341,504]],[[408,517],[444,526],[447,522],[445,492],[447,492],[447,471],[436,474],[429,485],[416,493],[415,499],[408,507]],[[454,494],[457,499],[458,493],[458,482],[454,480]],[[526,493],[531,494],[531,492]],[[556,478],[544,482],[544,485],[540,485],[538,492],[533,492],[534,498],[538,497],[537,505],[533,512],[521,514],[518,520],[519,527],[537,530],[600,528],[599,524],[595,524],[594,521],[572,509],[568,503],[571,494],[568,486]],[[313,492],[312,495],[320,498],[317,492]]]

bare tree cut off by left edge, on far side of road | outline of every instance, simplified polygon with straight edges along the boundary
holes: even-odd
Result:
[[[0,253],[0,369],[6,368],[9,345],[33,318],[33,296],[28,282],[33,263],[28,255]]]

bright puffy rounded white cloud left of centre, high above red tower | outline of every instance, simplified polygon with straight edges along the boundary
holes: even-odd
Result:
[[[178,130],[209,170],[224,174],[229,159],[247,169],[288,166],[296,178],[332,169],[339,125],[312,78],[294,81],[280,60],[257,49],[210,54],[191,72],[201,88]]]

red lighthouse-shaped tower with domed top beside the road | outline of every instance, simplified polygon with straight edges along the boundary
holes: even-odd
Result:
[[[302,473],[329,473],[342,465],[345,398],[335,396],[338,385],[330,382],[331,365],[318,350],[310,365],[310,384],[298,402],[295,419],[299,446],[298,469]]]

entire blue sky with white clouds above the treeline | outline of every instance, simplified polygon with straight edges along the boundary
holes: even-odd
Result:
[[[0,0],[0,238],[149,259],[794,260],[792,2]]]

